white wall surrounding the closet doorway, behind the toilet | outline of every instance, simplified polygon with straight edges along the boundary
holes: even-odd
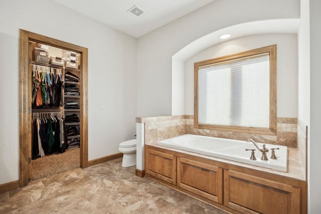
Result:
[[[135,38],[54,1],[1,1],[0,20],[0,184],[19,179],[19,29],[88,48],[89,160],[134,138]]]

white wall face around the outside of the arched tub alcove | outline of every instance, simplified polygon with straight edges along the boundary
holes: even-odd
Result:
[[[139,38],[137,116],[172,114],[172,56],[183,47],[228,26],[292,18],[299,18],[299,0],[216,0]]]

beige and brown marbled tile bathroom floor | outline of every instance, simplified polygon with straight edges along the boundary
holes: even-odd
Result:
[[[0,194],[0,213],[225,213],[146,177],[121,158]]]

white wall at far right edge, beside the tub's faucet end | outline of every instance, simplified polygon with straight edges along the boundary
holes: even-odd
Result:
[[[321,168],[319,158],[321,136],[320,79],[321,29],[319,0],[301,0],[300,28],[298,32],[298,119],[308,127],[307,142],[307,181],[308,213],[319,213],[321,204]]]

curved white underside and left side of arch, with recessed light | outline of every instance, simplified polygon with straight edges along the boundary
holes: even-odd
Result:
[[[262,20],[219,29],[187,44],[172,56],[172,115],[185,115],[185,61],[213,45],[256,34],[297,34],[299,19]],[[226,40],[223,34],[232,36]]]

